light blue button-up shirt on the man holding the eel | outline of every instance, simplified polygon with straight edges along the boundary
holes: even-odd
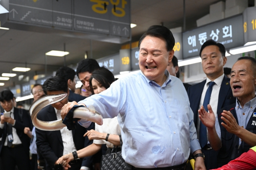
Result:
[[[93,105],[103,118],[118,116],[122,157],[137,168],[179,165],[201,149],[184,85],[167,70],[165,75],[160,87],[140,71],[79,102]],[[88,127],[90,122],[80,124]]]

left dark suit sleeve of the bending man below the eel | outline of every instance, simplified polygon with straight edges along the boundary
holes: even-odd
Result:
[[[58,156],[53,152],[47,140],[46,131],[39,130],[38,128],[36,128],[36,147],[50,166],[53,166],[56,160],[58,160]]]

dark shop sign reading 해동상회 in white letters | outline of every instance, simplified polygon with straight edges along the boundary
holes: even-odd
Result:
[[[207,40],[222,43],[226,49],[244,45],[243,16],[235,16],[182,34],[183,59],[199,56]]]

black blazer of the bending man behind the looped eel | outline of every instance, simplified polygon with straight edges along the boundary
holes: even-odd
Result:
[[[41,121],[57,120],[54,107],[51,105],[43,108],[37,115]],[[73,141],[77,150],[84,148],[84,134],[86,128],[78,125],[75,130],[72,130]],[[36,128],[36,146],[46,160],[46,169],[52,169],[54,163],[63,155],[63,142],[60,130],[45,131]]]

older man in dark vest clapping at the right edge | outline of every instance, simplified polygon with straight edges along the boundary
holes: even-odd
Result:
[[[230,86],[236,103],[218,111],[215,118],[211,106],[210,113],[201,107],[199,114],[208,129],[209,141],[214,150],[219,150],[218,167],[238,158],[256,146],[256,59],[240,57],[233,65]],[[214,124],[220,128],[214,128]],[[216,135],[221,132],[221,140]]]

